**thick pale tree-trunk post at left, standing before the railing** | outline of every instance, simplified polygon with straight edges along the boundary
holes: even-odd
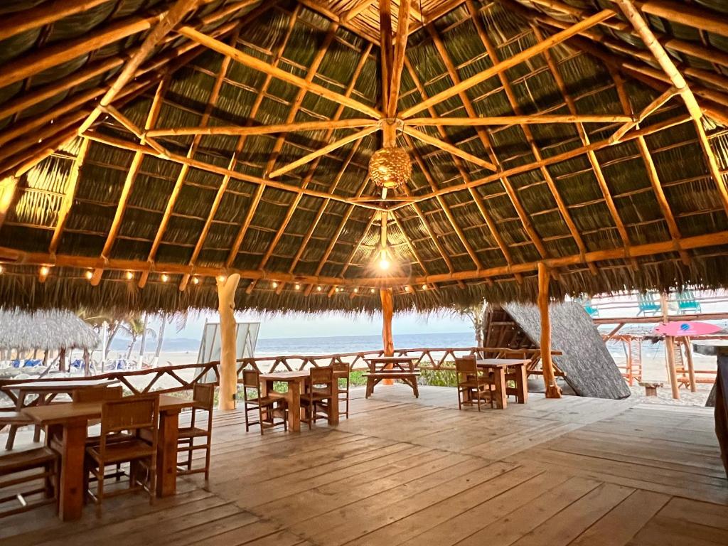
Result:
[[[235,291],[240,275],[234,273],[218,279],[218,311],[220,312],[220,402],[221,410],[235,409],[237,393],[237,325],[235,323]]]

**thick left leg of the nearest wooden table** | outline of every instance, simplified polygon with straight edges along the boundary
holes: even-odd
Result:
[[[85,420],[69,421],[63,427],[60,454],[60,492],[58,517],[62,521],[81,518],[84,506],[84,456],[86,454]]]

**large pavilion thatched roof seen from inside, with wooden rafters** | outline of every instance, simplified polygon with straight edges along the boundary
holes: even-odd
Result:
[[[376,288],[387,285],[397,309],[430,309],[533,300],[538,261],[555,268],[555,296],[724,287],[728,7],[636,2],[676,76],[645,47],[625,3],[633,5],[409,3],[396,110],[420,119],[404,125],[420,136],[397,135],[414,174],[385,201],[367,177],[379,130],[270,176],[366,125],[169,134],[378,115],[376,1],[96,0],[81,11],[71,0],[5,2],[0,301],[214,308],[214,277],[239,272],[240,307],[372,310]],[[604,7],[614,12],[588,19]],[[577,36],[561,40],[558,31],[583,20]],[[217,41],[207,43],[217,51],[202,47],[198,33],[240,55]],[[499,68],[545,40],[559,43]],[[122,67],[135,60],[143,61],[129,72],[135,79],[124,79]],[[259,61],[275,66],[275,77],[251,68]],[[476,74],[488,77],[413,113]],[[656,101],[680,74],[688,87]],[[299,92],[301,79],[319,87]],[[112,107],[95,109],[109,88]],[[688,109],[693,96],[698,106]],[[638,124],[625,122],[640,113]],[[516,114],[561,117],[480,127],[422,121]],[[571,115],[601,118],[563,122]],[[624,136],[612,138],[620,127]],[[147,129],[168,131],[152,138]],[[422,133],[455,149],[425,143]],[[462,152],[468,159],[454,155]],[[387,275],[373,268],[385,209],[396,260]]]

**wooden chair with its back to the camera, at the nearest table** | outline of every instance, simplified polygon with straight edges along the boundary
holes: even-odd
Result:
[[[145,489],[149,504],[154,504],[157,486],[157,427],[159,424],[159,395],[146,395],[108,400],[101,406],[101,435],[98,446],[86,448],[89,472],[97,480],[96,494],[88,490],[96,504],[96,515],[101,515],[104,496],[116,496],[130,491]],[[122,431],[134,433],[127,441],[109,441]],[[143,438],[144,436],[144,438]],[[129,488],[104,494],[104,469],[109,464],[130,463]],[[146,485],[139,480],[141,470],[146,470]]]

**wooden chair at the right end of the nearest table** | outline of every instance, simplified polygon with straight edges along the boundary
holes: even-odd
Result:
[[[213,407],[215,405],[215,384],[195,383],[192,389],[194,405],[191,411],[189,427],[180,427],[177,434],[177,453],[186,453],[187,460],[178,464],[177,475],[197,474],[205,472],[205,481],[210,479],[210,448],[213,443]],[[207,426],[197,426],[197,412],[207,412]],[[194,445],[195,438],[205,438],[205,443]],[[205,467],[192,468],[192,454],[199,449],[205,450]]]

